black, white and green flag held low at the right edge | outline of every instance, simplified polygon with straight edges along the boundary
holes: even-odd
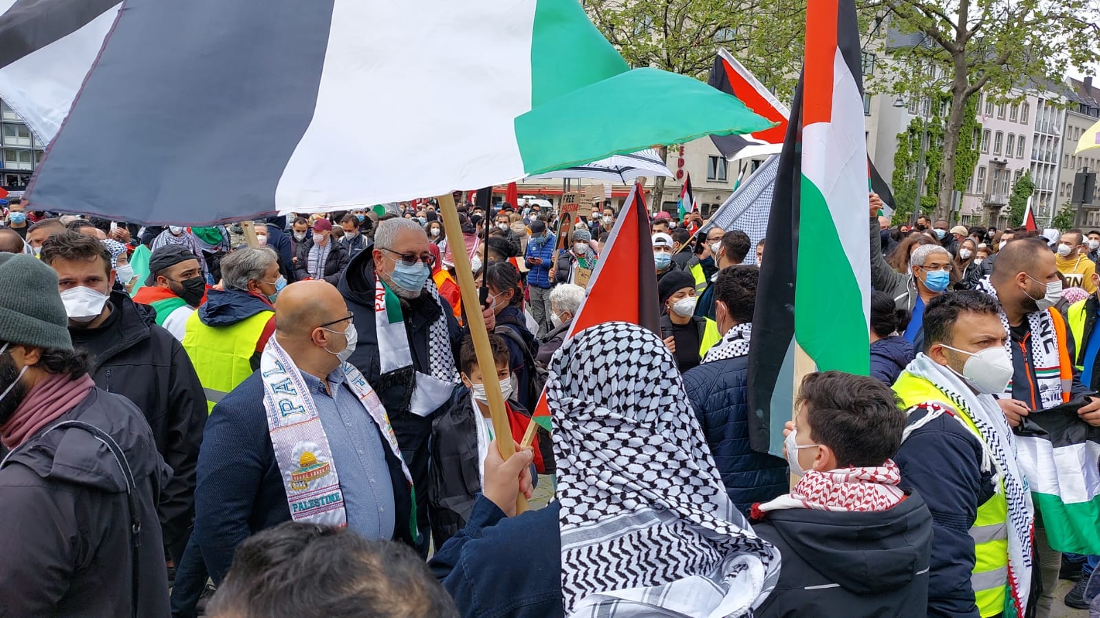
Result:
[[[1016,429],[1016,457],[1027,476],[1050,547],[1100,554],[1100,427],[1059,406],[1028,415]]]

